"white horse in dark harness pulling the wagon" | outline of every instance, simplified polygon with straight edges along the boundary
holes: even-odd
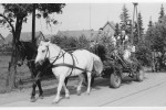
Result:
[[[59,102],[62,86],[65,90],[65,98],[70,98],[69,90],[64,85],[64,79],[66,77],[79,76],[80,82],[77,86],[77,95],[80,95],[84,78],[82,73],[86,73],[89,81],[86,94],[89,95],[91,90],[92,70],[94,69],[98,75],[103,70],[103,63],[101,62],[101,58],[86,50],[76,50],[71,55],[55,44],[41,41],[35,63],[41,63],[45,58],[49,58],[50,63],[54,65],[52,72],[59,80],[58,92],[53,102]]]

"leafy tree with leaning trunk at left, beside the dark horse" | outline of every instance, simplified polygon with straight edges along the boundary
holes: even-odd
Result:
[[[22,23],[25,23],[28,16],[33,11],[32,3],[2,3],[4,9],[3,13],[0,13],[2,18],[0,20],[0,24],[9,28],[13,37],[12,37],[12,55],[11,62],[9,63],[9,73],[7,78],[7,90],[11,91],[14,88],[14,79],[17,74],[17,56],[18,56],[18,42],[20,40],[20,34],[22,30]],[[55,20],[50,19],[50,14],[56,12],[62,13],[62,9],[64,8],[64,3],[38,3],[35,9],[40,12],[38,13],[38,18],[41,15],[46,20],[46,23],[53,22],[56,23]]]

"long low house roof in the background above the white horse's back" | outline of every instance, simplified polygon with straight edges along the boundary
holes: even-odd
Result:
[[[93,30],[81,30],[81,31],[59,31],[58,35],[60,36],[69,36],[69,37],[76,37],[84,35],[87,40],[92,40],[97,35],[98,31]]]

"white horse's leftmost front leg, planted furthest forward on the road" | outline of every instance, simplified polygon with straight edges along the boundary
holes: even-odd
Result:
[[[59,86],[58,86],[58,92],[56,92],[56,97],[54,98],[53,100],[53,103],[58,103],[60,101],[60,92],[61,92],[61,89],[62,89],[62,86],[64,84],[64,79],[65,77],[64,76],[60,76],[59,77]]]

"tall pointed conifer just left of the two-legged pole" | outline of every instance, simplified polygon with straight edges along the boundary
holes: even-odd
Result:
[[[129,15],[128,15],[128,10],[125,4],[123,6],[120,19],[121,19],[121,24],[122,24],[121,30],[127,30],[128,29],[127,24],[129,22]]]

